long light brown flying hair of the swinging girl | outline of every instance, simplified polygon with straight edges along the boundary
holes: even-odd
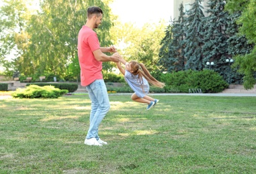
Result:
[[[136,61],[131,61],[130,68],[133,71],[132,74],[134,75],[138,74],[139,82],[142,82],[142,76],[143,76],[144,78],[146,78],[146,80],[148,80],[148,83],[152,84],[153,86],[157,86],[159,88],[163,88],[165,86],[165,83],[159,82],[157,79],[151,76],[151,73],[148,72],[148,69],[146,69],[144,64],[138,63]]]

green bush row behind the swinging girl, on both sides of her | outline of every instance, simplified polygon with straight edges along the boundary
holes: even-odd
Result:
[[[228,83],[223,79],[218,72],[213,70],[193,71],[185,70],[166,74],[158,74],[157,79],[165,83],[164,88],[155,86],[150,87],[152,93],[162,92],[192,92],[194,89],[200,89],[202,93],[216,93],[222,92],[228,87]],[[116,80],[112,80],[116,81]],[[126,82],[115,85],[112,82],[107,82],[108,91],[112,92],[133,92]]]

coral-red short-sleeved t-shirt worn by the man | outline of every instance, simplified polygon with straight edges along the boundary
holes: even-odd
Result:
[[[78,34],[78,58],[81,68],[81,86],[88,86],[98,79],[103,79],[102,62],[95,59],[93,52],[100,49],[95,31],[83,25]]]

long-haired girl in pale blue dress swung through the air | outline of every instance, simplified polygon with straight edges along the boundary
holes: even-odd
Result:
[[[122,68],[120,62],[126,66],[125,70]],[[122,56],[120,56],[120,62],[116,62],[118,69],[124,75],[124,79],[130,88],[134,91],[134,94],[131,96],[132,100],[148,104],[146,107],[147,110],[155,106],[159,100],[146,95],[149,92],[148,82],[159,88],[163,88],[165,84],[153,78],[142,63],[136,61],[128,63]]]

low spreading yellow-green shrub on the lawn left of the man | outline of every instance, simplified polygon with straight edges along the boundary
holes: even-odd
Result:
[[[14,98],[58,98],[67,92],[68,90],[60,90],[54,86],[30,85],[26,88],[17,88],[11,96]]]

